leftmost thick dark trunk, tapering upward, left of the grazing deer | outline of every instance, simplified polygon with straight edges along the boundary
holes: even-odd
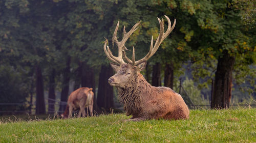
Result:
[[[41,68],[37,65],[36,67],[36,110],[35,113],[45,114],[46,105],[44,97],[44,82],[42,81],[42,71]]]

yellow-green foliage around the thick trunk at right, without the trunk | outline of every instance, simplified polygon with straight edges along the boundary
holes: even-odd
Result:
[[[253,10],[253,8],[243,7],[248,5],[253,7],[254,2],[176,2],[177,8],[182,10],[178,15],[181,17],[179,21],[188,21],[180,23],[182,25],[180,28],[176,26],[184,34],[183,40],[180,40],[176,47],[181,51],[187,51],[185,52],[189,58],[187,61],[193,63],[194,80],[201,82],[199,88],[208,88],[217,69],[216,60],[222,56],[222,51],[225,49],[236,57],[234,81],[237,84],[255,81],[255,70],[250,66],[255,65],[255,28],[251,26],[255,22],[251,20],[251,24],[245,24],[243,20],[244,13]],[[186,18],[183,18],[183,15]],[[254,86],[254,83],[251,86]],[[248,89],[250,93],[255,91],[253,88]],[[245,90],[244,87],[243,90]]]

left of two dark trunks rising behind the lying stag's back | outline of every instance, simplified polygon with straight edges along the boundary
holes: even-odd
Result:
[[[152,85],[155,87],[161,86],[161,64],[160,63],[156,63],[153,66]]]

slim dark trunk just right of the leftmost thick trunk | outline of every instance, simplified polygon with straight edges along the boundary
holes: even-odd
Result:
[[[52,69],[49,76],[49,95],[48,95],[48,113],[54,113],[55,111],[55,69]]]

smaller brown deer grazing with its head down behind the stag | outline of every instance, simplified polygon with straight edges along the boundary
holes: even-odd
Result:
[[[93,97],[94,93],[92,88],[79,88],[73,91],[68,99],[67,107],[64,113],[61,114],[62,118],[71,118],[73,110],[79,109],[78,117],[86,116],[84,108],[89,107],[90,115],[93,116]]]

